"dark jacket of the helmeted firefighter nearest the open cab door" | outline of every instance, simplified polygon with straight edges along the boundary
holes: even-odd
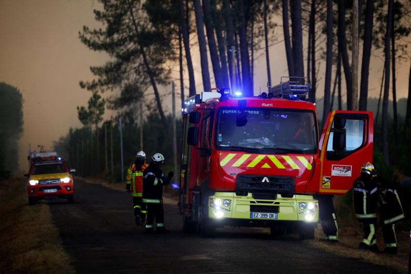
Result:
[[[354,210],[356,217],[359,219],[376,218],[377,200],[371,191],[377,187],[371,176],[362,175],[358,177],[353,184]]]

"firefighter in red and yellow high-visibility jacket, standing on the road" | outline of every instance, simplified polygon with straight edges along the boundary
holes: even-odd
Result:
[[[133,192],[134,216],[138,226],[144,225],[146,214],[145,205],[142,203],[143,171],[147,167],[145,159],[144,151],[137,152],[136,160],[128,168],[126,177],[126,190]]]

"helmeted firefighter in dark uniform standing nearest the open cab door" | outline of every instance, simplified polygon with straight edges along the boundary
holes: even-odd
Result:
[[[372,195],[377,187],[375,168],[370,162],[361,166],[360,177],[353,183],[354,210],[364,229],[364,239],[359,249],[379,251],[376,240],[376,199]],[[372,193],[371,193],[372,192]]]

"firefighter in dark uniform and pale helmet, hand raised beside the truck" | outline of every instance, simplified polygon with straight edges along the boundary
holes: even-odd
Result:
[[[164,226],[163,186],[170,183],[174,172],[170,171],[168,176],[164,177],[161,171],[161,165],[164,165],[162,154],[156,153],[151,159],[150,166],[143,172],[143,203],[147,208],[145,233],[154,233],[154,219],[156,219],[156,232],[168,233],[170,231]]]

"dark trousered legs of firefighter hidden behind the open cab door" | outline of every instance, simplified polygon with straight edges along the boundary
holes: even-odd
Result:
[[[318,195],[315,197],[319,202],[320,222],[326,239],[329,241],[338,241],[338,224],[335,217],[334,205],[331,195]]]

